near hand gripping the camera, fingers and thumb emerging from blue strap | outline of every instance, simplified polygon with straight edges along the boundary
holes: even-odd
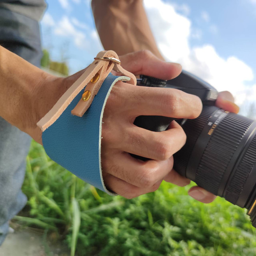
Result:
[[[159,60],[148,51],[120,57],[124,69],[135,75],[172,79],[181,66]],[[194,95],[169,88],[137,87],[116,83],[108,98],[102,124],[101,165],[108,189],[126,198],[155,191],[162,180],[179,186],[190,180],[173,170],[173,154],[186,141],[183,129],[172,122],[169,129],[152,132],[133,124],[139,115],[196,118],[202,102]],[[146,162],[130,153],[149,158]]]

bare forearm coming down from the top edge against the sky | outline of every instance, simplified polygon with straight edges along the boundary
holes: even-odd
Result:
[[[105,50],[119,55],[150,50],[163,59],[155,43],[143,0],[92,0],[92,11]]]

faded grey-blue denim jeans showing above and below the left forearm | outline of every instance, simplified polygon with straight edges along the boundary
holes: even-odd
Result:
[[[0,45],[40,66],[42,50],[38,22],[0,8]],[[26,133],[0,117],[0,245],[8,233],[9,220],[27,201],[21,187],[30,142]]]

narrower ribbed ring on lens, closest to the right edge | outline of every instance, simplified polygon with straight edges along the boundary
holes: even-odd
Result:
[[[253,138],[231,179],[225,199],[236,204],[253,166],[256,163],[256,137]]]

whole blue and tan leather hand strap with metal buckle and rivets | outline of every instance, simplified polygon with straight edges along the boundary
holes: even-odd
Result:
[[[109,74],[112,70],[125,76],[113,76]],[[133,74],[120,66],[114,51],[99,53],[83,75],[37,123],[43,131],[42,141],[47,155],[109,195],[116,194],[108,190],[103,180],[101,130],[108,96],[118,81],[134,85],[137,82]]]

